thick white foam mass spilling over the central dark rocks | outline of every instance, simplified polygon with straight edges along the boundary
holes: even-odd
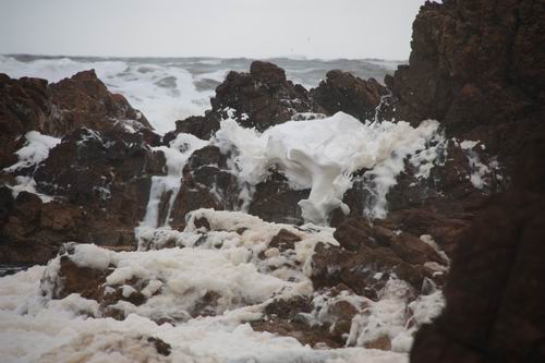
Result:
[[[311,189],[308,198],[300,202],[303,218],[326,223],[331,210],[340,207],[349,211],[342,196],[352,185],[352,173],[361,169],[370,170],[377,196],[367,213],[384,217],[386,194],[397,183],[404,159],[440,138],[438,128],[433,120],[417,128],[403,121],[362,123],[338,112],[325,119],[284,122],[258,133],[228,119],[221,122],[216,142],[223,149],[234,146],[239,178],[250,185],[265,181],[269,169],[276,167],[292,189]],[[428,164],[435,156],[422,161]]]

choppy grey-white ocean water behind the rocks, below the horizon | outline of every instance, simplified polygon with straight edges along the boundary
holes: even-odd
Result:
[[[0,73],[11,77],[33,76],[58,82],[76,72],[95,69],[113,93],[125,96],[140,109],[156,132],[174,129],[175,120],[204,114],[209,99],[229,71],[249,71],[252,59],[233,58],[88,58],[0,56]],[[362,78],[383,82],[401,61],[316,60],[275,58],[268,61],[286,70],[289,80],[307,89],[316,87],[334,69]]]

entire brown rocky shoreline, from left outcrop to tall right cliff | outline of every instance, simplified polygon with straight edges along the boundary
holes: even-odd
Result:
[[[543,1],[426,2],[413,24],[409,64],[386,86],[334,70],[307,90],[277,65],[255,61],[249,72],[227,75],[205,116],[177,121],[162,136],[93,70],[52,84],[0,74],[0,264],[52,259],[44,297],[78,293],[98,306],[86,314],[123,320],[144,314],[154,297],[175,295],[154,288],[171,278],[162,269],[106,283],[123,266],[144,253],[221,250],[218,239],[234,239],[259,273],[290,276],[286,291],[303,289],[306,275],[312,293],[242,294],[226,303],[219,289],[190,294],[187,316],[148,317],[175,326],[261,304],[262,316],[249,320],[255,331],[314,348],[403,351],[405,335],[392,338],[393,328],[365,335],[388,301],[402,311],[396,329],[417,330],[412,362],[540,362],[544,14]],[[294,187],[280,158],[271,158],[265,177],[242,179],[243,149],[226,146],[223,125],[230,120],[259,136],[337,112],[365,128],[407,121],[398,138],[414,132],[422,145],[412,149],[407,141],[407,152],[388,154],[400,160],[385,191],[378,161],[350,170],[350,186],[325,209],[326,227],[313,229],[307,222],[316,219],[304,207],[319,185]],[[425,134],[428,119],[438,126]],[[379,202],[385,213],[370,213]],[[221,211],[238,217],[222,222]],[[72,241],[84,247],[65,244]],[[107,263],[82,263],[89,243],[102,247],[89,253]],[[441,291],[446,308],[429,324],[438,312],[420,310]],[[167,343],[153,343],[170,354]]]

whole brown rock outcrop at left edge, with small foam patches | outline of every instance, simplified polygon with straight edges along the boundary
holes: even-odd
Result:
[[[64,136],[39,166],[15,176],[34,177],[38,192],[59,198],[50,203],[31,193],[11,197],[0,213],[0,262],[45,263],[66,241],[102,245],[134,244],[133,229],[144,215],[150,176],[164,173],[165,158],[144,117],[120,95],[108,92],[94,71],[57,84],[45,80],[11,80],[0,75],[0,170],[17,161],[13,154],[24,134]],[[129,133],[125,128],[140,130]]]

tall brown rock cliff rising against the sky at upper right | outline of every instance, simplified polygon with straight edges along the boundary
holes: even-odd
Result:
[[[437,119],[450,135],[485,142],[512,171],[543,119],[544,13],[543,1],[426,2],[409,65],[386,80],[397,117]]]

